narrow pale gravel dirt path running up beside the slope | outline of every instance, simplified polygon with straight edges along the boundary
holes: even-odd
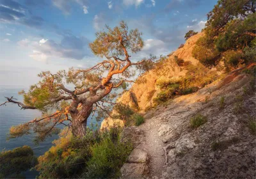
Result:
[[[140,125],[139,128],[145,132],[145,139],[141,143],[140,148],[145,150],[149,156],[149,166],[151,177],[157,176],[161,177],[162,171],[164,169],[164,150],[165,144],[161,141],[158,136],[158,129],[161,123],[159,123],[159,118],[150,118]]]

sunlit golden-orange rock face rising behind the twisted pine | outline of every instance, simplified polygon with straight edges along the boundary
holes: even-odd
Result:
[[[152,104],[152,99],[157,96],[161,90],[156,85],[157,81],[164,79],[179,79],[186,74],[186,70],[180,68],[174,60],[174,57],[184,59],[184,61],[190,61],[193,65],[198,63],[198,60],[192,57],[192,49],[195,46],[198,38],[203,36],[203,33],[191,36],[184,47],[177,49],[171,56],[164,61],[163,65],[159,65],[159,68],[150,70],[143,74],[132,88],[125,92],[118,101],[128,104],[130,107],[134,105],[143,111]]]

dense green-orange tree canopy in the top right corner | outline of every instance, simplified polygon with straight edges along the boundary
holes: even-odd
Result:
[[[221,56],[233,67],[255,60],[255,0],[219,0],[207,13],[204,32],[192,52],[204,65],[216,65]],[[232,52],[236,56],[231,56]]]

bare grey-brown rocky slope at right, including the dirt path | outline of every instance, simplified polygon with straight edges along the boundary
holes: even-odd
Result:
[[[138,177],[255,178],[255,79],[242,70],[145,114],[136,148],[150,169]],[[193,128],[196,114],[207,122]]]

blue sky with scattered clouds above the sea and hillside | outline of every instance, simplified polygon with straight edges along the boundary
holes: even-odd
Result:
[[[42,71],[102,61],[88,44],[125,20],[143,33],[132,61],[167,55],[189,30],[201,31],[217,0],[0,0],[0,86],[30,86]]]

